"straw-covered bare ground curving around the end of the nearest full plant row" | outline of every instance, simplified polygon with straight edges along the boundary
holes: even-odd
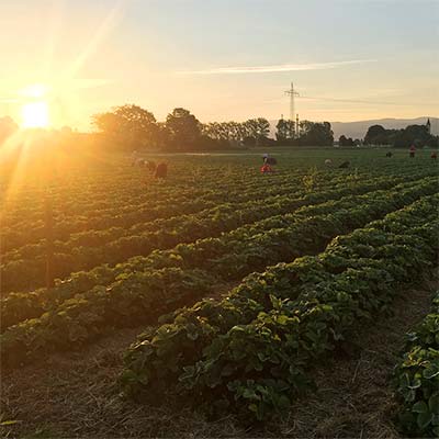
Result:
[[[437,281],[403,291],[394,314],[359,328],[353,344],[316,368],[317,392],[301,398],[286,419],[245,430],[230,415],[207,423],[189,409],[148,407],[124,401],[114,382],[122,354],[144,327],[102,338],[81,352],[50,356],[1,380],[2,437],[294,437],[398,438],[389,376],[404,335],[428,313]]]

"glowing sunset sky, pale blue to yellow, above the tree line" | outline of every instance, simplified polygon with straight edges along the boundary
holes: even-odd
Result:
[[[125,103],[201,122],[438,116],[438,0],[1,0],[0,117],[91,130]],[[32,85],[43,92],[33,94]]]

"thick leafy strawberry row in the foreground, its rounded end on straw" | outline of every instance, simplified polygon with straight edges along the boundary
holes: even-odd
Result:
[[[127,351],[121,383],[136,397],[172,390],[263,419],[312,384],[309,370],[352,326],[390,306],[437,258],[438,196],[415,202],[325,252],[252,274],[222,301],[177,312]]]

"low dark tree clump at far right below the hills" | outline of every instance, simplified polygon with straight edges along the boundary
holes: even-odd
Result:
[[[438,147],[439,138],[429,133],[427,125],[408,125],[403,130],[386,130],[372,125],[364,136],[365,145],[391,145],[408,148],[410,145]]]

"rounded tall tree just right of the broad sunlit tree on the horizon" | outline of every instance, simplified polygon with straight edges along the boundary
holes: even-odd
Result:
[[[198,146],[201,138],[201,124],[188,110],[175,109],[166,117],[166,127],[177,149],[184,150]]]

